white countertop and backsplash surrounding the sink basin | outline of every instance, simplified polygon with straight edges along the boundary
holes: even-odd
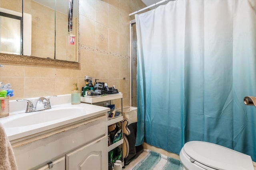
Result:
[[[35,106],[35,101],[38,98],[32,98],[28,99],[32,101],[32,103]],[[96,105],[91,105],[91,104],[78,104],[78,105],[72,105],[71,104],[71,95],[60,95],[57,96],[56,98],[50,98],[51,102],[51,109],[43,110],[43,111],[35,111],[31,113],[24,113],[26,109],[27,102],[17,102],[16,100],[10,100],[10,115],[8,117],[3,117],[0,118],[0,123],[4,127],[4,130],[6,132],[6,135],[9,139],[9,141],[19,139],[22,137],[26,137],[29,135],[33,135],[36,133],[40,133],[43,131],[47,131],[62,125],[66,125],[69,123],[73,123],[75,121],[79,121],[82,119],[87,119],[92,116],[96,116],[99,114],[102,114],[104,112],[109,111],[110,109],[108,107],[101,107],[101,106],[96,106]],[[18,126],[14,125],[14,127],[5,127],[5,124],[8,123],[9,121],[12,121],[14,119],[22,119],[22,117],[25,117],[27,115],[32,115],[32,114],[38,114],[44,111],[54,111],[55,109],[72,109],[76,108],[79,110],[82,110],[80,113],[70,113],[68,116],[64,116],[63,118],[56,119],[54,121],[51,121],[51,117],[49,116],[49,121],[46,121],[44,123],[38,123],[38,124],[33,124],[29,123],[26,126]],[[44,117],[45,118],[45,117]],[[24,121],[24,118],[23,118]],[[29,120],[31,121],[31,120]],[[36,120],[35,120],[36,121]],[[16,121],[17,122],[17,121]]]

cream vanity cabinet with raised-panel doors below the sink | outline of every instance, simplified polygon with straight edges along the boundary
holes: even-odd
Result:
[[[107,170],[107,112],[10,141],[19,170]],[[49,168],[48,163],[52,162]]]

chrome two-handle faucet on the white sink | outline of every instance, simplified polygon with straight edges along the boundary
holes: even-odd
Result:
[[[29,113],[29,112],[46,110],[46,109],[52,108],[51,104],[50,104],[50,98],[53,98],[53,97],[57,97],[57,96],[50,96],[47,99],[45,97],[38,98],[38,100],[36,102],[36,107],[34,107],[33,103],[30,100],[18,99],[16,101],[17,102],[27,102],[27,107],[26,107],[25,113]]]

